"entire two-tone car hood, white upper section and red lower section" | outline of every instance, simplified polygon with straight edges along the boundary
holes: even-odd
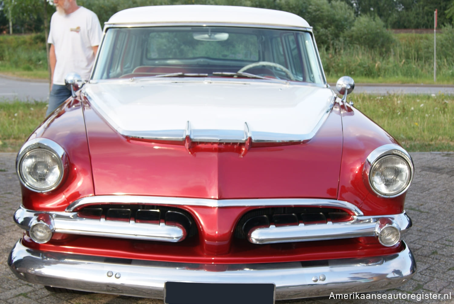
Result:
[[[123,84],[85,87],[96,195],[336,198],[342,124],[331,90],[262,81]]]

